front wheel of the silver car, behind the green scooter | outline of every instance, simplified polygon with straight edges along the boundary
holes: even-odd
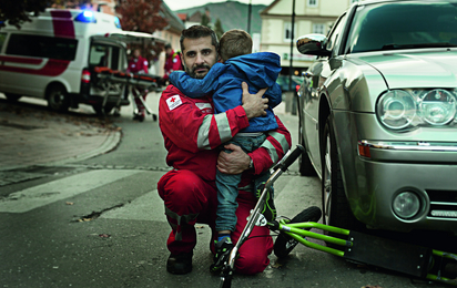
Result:
[[[328,117],[322,137],[322,212],[323,223],[344,229],[359,230],[359,222],[353,215],[343,185],[338,150],[332,121]],[[338,234],[328,234],[338,237]],[[332,244],[327,244],[333,246]]]

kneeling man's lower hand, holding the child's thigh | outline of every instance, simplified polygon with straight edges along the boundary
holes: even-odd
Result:
[[[251,157],[234,144],[224,145],[232,153],[221,152],[217,158],[217,169],[225,174],[240,174],[250,167]]]

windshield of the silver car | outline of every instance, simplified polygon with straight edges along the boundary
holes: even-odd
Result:
[[[346,53],[457,47],[456,1],[407,1],[360,6]]]

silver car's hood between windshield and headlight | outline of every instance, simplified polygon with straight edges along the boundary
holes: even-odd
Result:
[[[359,60],[375,68],[389,89],[457,88],[457,50],[402,51]]]

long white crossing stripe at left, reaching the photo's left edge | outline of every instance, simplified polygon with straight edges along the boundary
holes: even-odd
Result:
[[[0,199],[0,213],[26,213],[57,200],[101,187],[136,173],[140,172],[130,169],[89,171],[14,192],[8,197]]]

